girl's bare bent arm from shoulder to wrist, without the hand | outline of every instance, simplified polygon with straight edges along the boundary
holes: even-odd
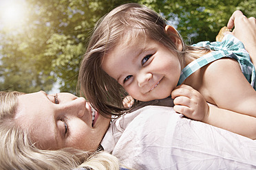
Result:
[[[239,64],[229,58],[209,64],[203,86],[214,104],[223,109],[210,107],[209,119],[204,122],[255,139],[256,91],[244,77]]]

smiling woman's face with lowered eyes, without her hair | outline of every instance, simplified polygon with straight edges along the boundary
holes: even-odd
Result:
[[[39,149],[97,149],[110,119],[94,112],[83,97],[40,91],[18,97],[15,121],[28,129]],[[94,117],[94,118],[93,118]],[[94,119],[94,121],[93,121]]]

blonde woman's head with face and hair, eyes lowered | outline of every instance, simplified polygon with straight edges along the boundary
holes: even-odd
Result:
[[[0,169],[119,169],[117,158],[96,151],[110,119],[96,112],[92,123],[84,98],[40,91],[0,99]]]

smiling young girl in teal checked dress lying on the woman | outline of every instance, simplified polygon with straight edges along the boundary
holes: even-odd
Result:
[[[242,42],[227,35],[222,42],[184,45],[161,16],[136,3],[96,25],[79,81],[103,114],[120,114],[128,94],[138,101],[171,95],[176,112],[256,138],[255,68]]]

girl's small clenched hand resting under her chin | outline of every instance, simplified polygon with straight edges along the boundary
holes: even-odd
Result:
[[[204,97],[191,86],[177,86],[171,93],[173,109],[176,112],[196,121],[206,121],[209,117],[209,106]]]

